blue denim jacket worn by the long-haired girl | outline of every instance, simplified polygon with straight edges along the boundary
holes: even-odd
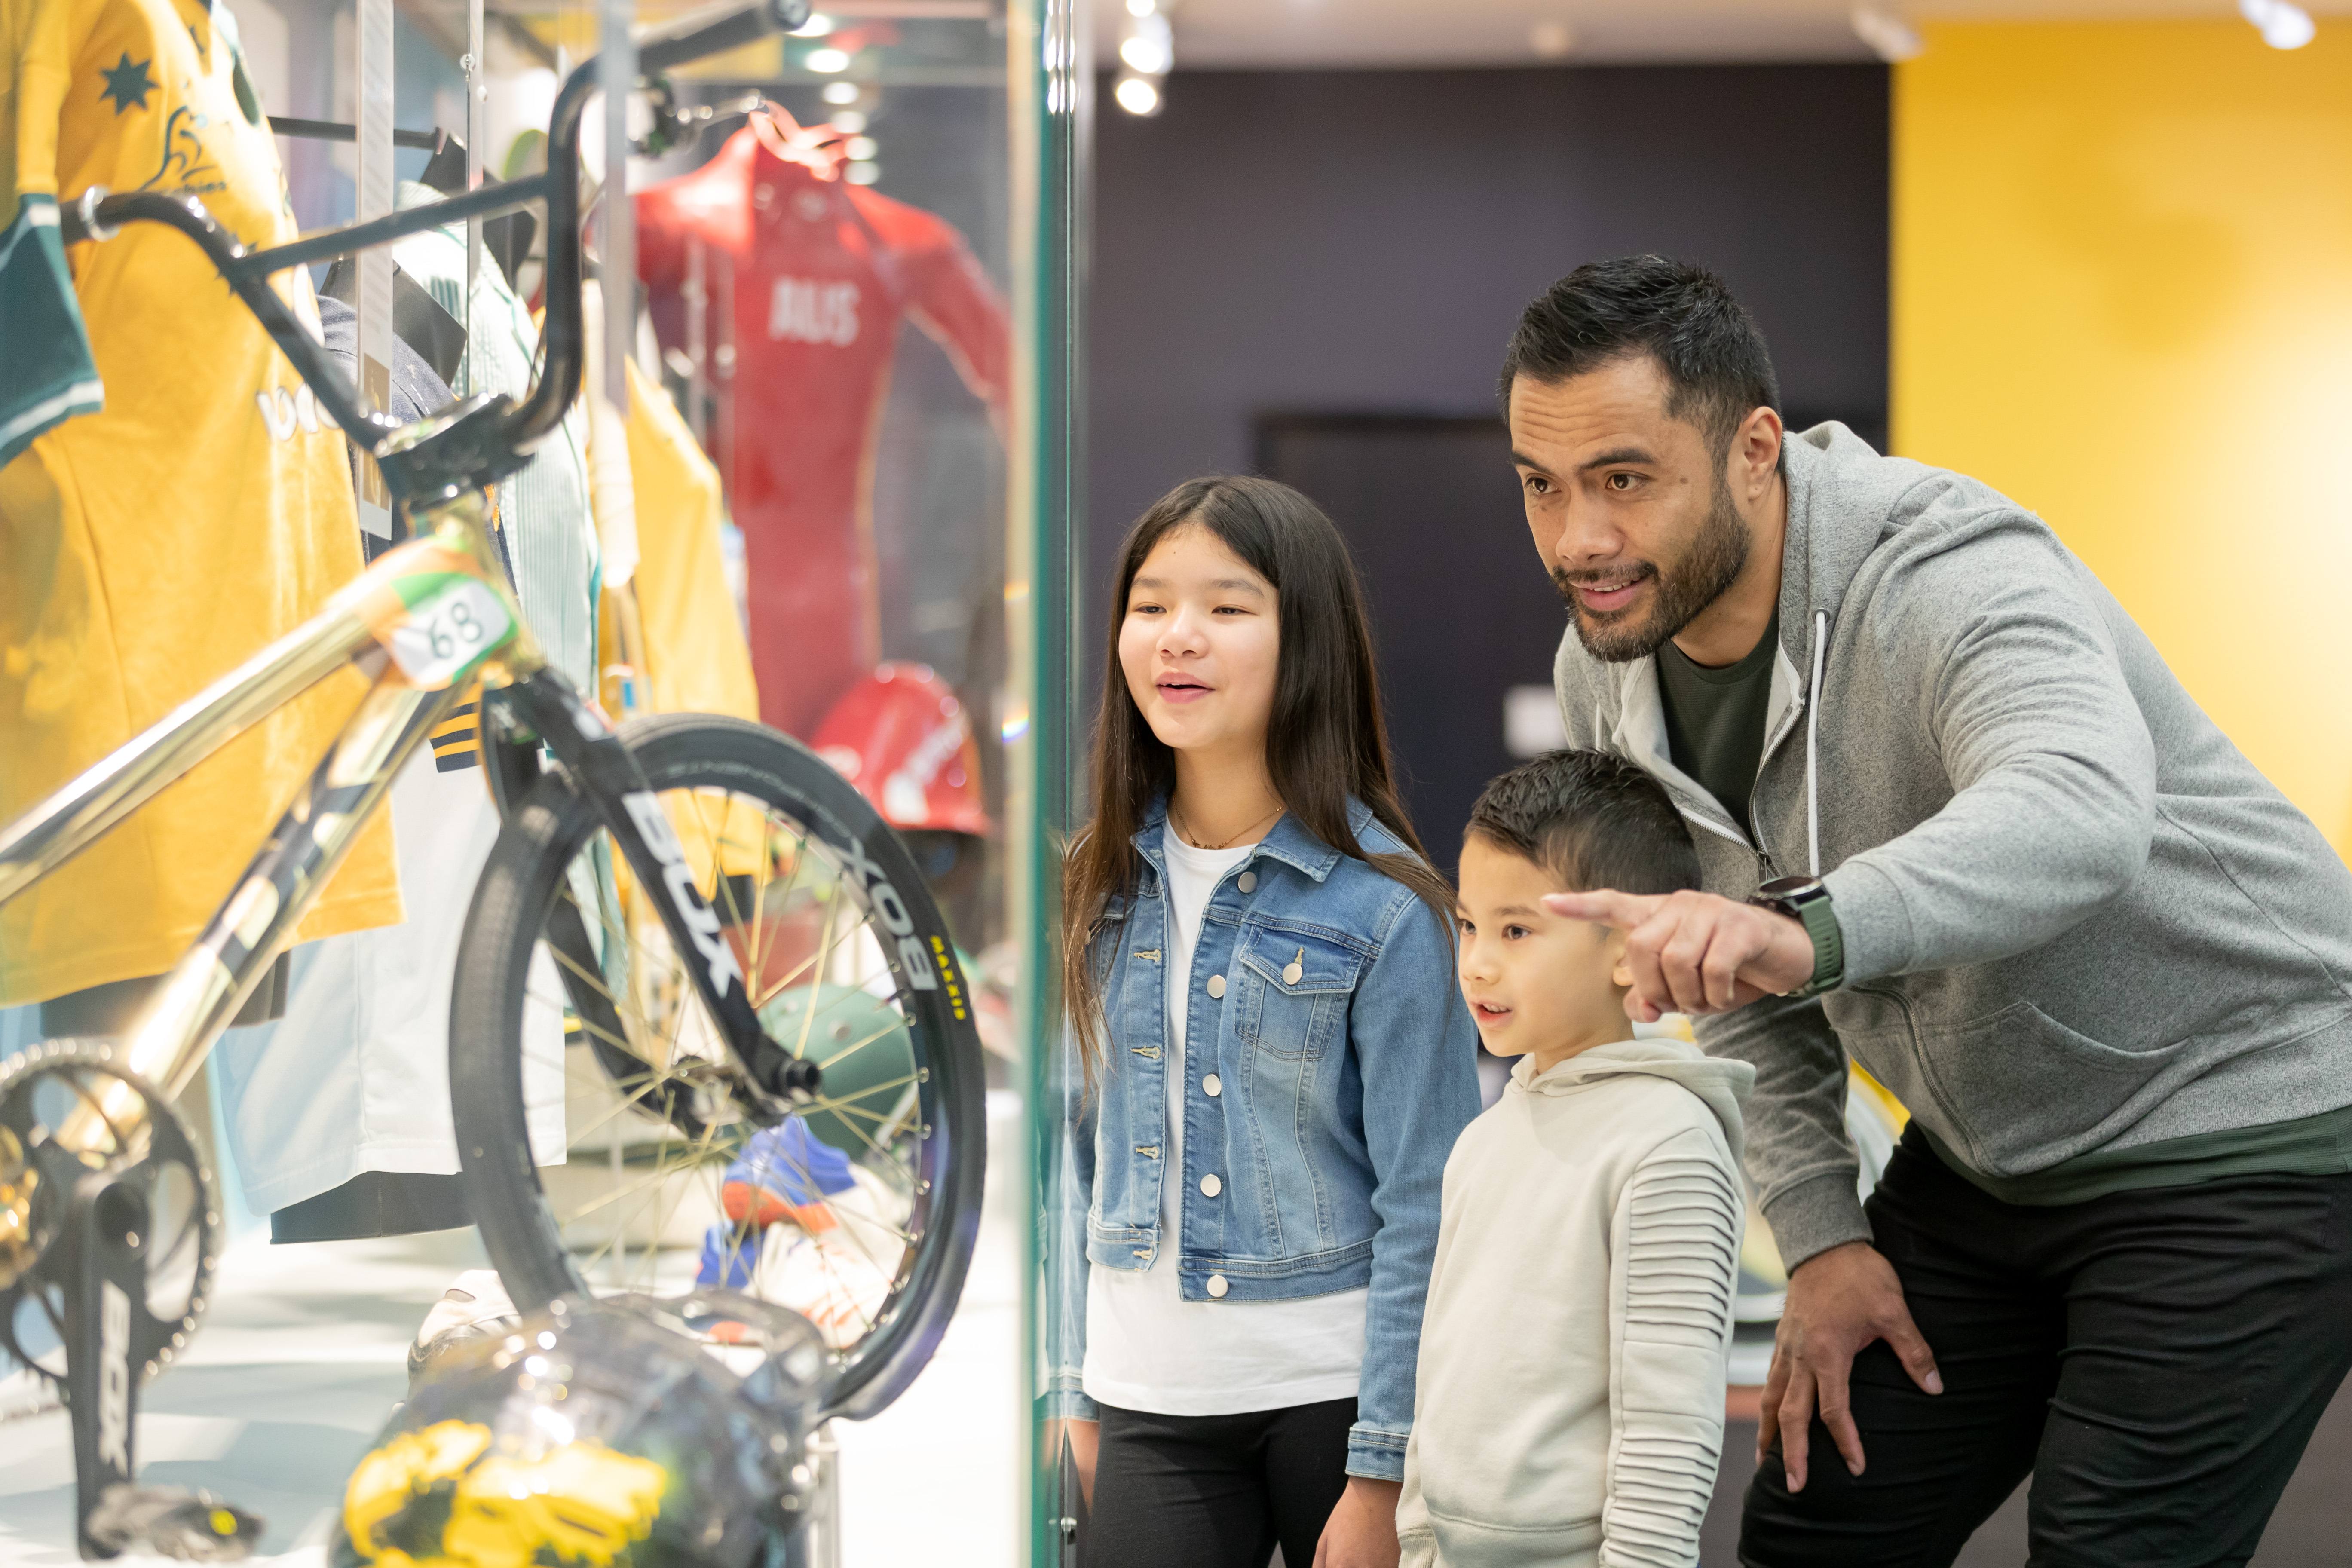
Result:
[[[1138,886],[1112,898],[1089,959],[1103,997],[1105,1060],[1070,1103],[1070,1206],[1084,1255],[1148,1269],[1160,1182],[1181,1180],[1183,1300],[1258,1302],[1371,1286],[1348,1474],[1397,1481],[1414,1425],[1421,1305],[1437,1251],[1446,1154],[1479,1110],[1477,1025],[1454,980],[1451,931],[1364,860],[1284,816],[1209,898],[1190,976],[1169,976],[1167,865],[1155,804],[1136,835]],[[1350,802],[1367,853],[1402,853]],[[1185,1009],[1183,1171],[1167,1171],[1167,985]],[[1221,992],[1221,994],[1218,994]],[[1216,1072],[1221,1093],[1190,1086]],[[1202,1175],[1223,1185],[1200,1190]],[[1075,1213],[1058,1232],[1077,1241]],[[1169,1237],[1167,1241],[1174,1241]],[[1049,1229],[1049,1251],[1054,1232]],[[1084,1269],[1054,1267],[1056,1403],[1094,1415]]]

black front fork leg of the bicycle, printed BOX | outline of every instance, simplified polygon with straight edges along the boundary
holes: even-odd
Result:
[[[753,1079],[771,1095],[790,1105],[816,1100],[821,1081],[816,1063],[793,1056],[760,1027],[760,1013],[753,1009],[743,966],[727,943],[720,912],[694,884],[684,844],[677,842],[668,811],[661,809],[621,736],[555,670],[539,670],[499,696],[517,719],[539,731],[564,764],[572,788],[604,820],[628,870],[661,912],[670,945],[689,959],[682,966],[736,1060],[750,1067]]]

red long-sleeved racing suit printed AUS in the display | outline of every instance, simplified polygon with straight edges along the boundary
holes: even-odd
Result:
[[[750,127],[635,200],[637,268],[659,324],[680,320],[689,237],[706,244],[710,341],[734,341],[731,378],[724,355],[717,364],[731,418],[717,421],[710,447],[743,529],[760,717],[809,736],[882,661],[873,451],[898,322],[948,350],[1002,430],[1004,301],[953,226],[776,158]],[[720,320],[729,294],[731,334]]]

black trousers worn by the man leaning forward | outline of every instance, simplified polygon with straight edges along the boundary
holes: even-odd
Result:
[[[1748,1568],[1950,1563],[2018,1481],[2032,1568],[2244,1563],[2352,1366],[2352,1175],[2002,1204],[1903,1138],[1867,1204],[1945,1392],[1853,1359],[1867,1467],[1764,1458]]]

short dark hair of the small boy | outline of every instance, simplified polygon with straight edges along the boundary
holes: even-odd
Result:
[[[1606,752],[1543,752],[1491,780],[1463,837],[1534,860],[1576,893],[1679,893],[1698,849],[1665,785]]]

